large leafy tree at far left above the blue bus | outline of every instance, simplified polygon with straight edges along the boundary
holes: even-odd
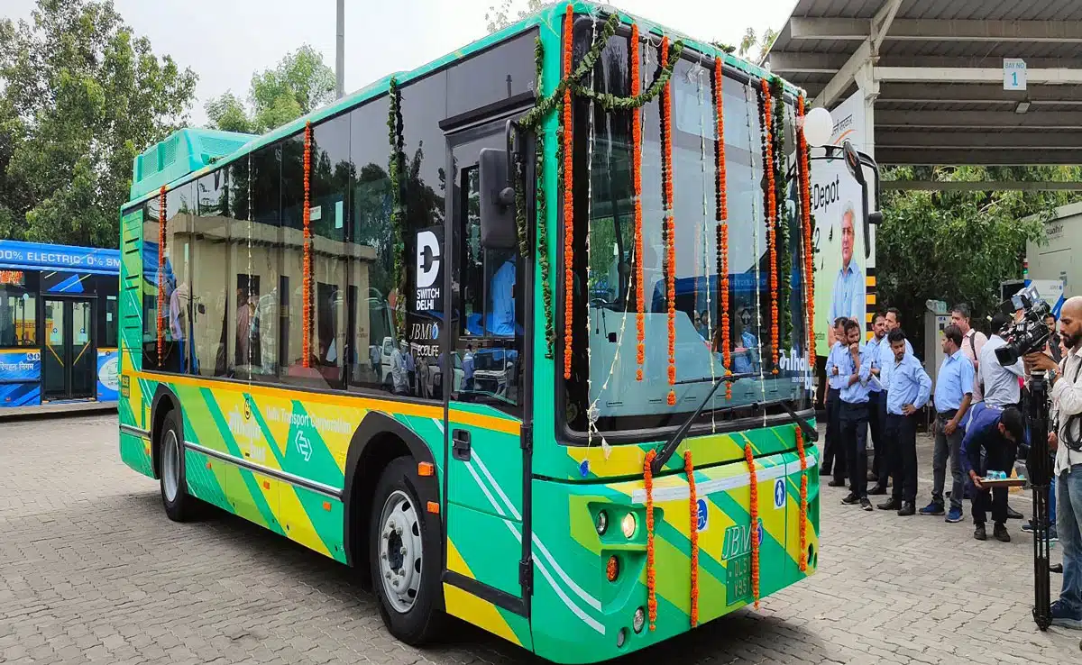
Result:
[[[0,21],[0,237],[116,247],[132,159],[183,124],[195,84],[111,0]]]

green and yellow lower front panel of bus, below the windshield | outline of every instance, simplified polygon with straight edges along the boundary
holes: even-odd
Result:
[[[778,428],[792,438],[792,427]],[[765,598],[816,569],[818,560],[817,451],[807,469],[795,453],[755,460],[761,528],[760,588]],[[801,570],[801,477],[807,507]],[[745,463],[695,471],[700,624],[754,602],[751,490]],[[539,655],[558,663],[616,657],[691,629],[691,506],[685,474],[654,481],[656,629],[634,630],[638,608],[648,615],[646,491],[642,478],[608,483],[535,480],[535,595],[532,633]],[[598,513],[607,528],[598,534]],[[626,537],[622,523],[633,515]],[[570,534],[570,538],[568,538]],[[617,578],[607,566],[617,561]],[[618,636],[623,633],[622,647]]]

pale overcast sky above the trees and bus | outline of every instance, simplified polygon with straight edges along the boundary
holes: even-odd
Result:
[[[525,6],[525,0],[516,0]],[[28,19],[36,0],[3,0],[2,15]],[[133,30],[198,76],[189,123],[227,90],[248,96],[254,71],[307,43],[334,67],[335,0],[114,0]],[[345,1],[345,89],[409,70],[485,35],[493,0]],[[616,0],[622,10],[704,41],[737,44],[744,28],[780,28],[796,0]]]

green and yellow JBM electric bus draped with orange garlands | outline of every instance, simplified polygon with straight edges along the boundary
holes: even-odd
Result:
[[[136,158],[120,455],[170,519],[560,663],[816,570],[803,93],[611,11]]]

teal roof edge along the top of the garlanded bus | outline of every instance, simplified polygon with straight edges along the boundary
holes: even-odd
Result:
[[[515,37],[517,35],[520,35],[520,34],[523,34],[523,32],[525,32],[527,30],[533,29],[533,28],[538,28],[541,31],[547,31],[550,34],[550,36],[558,38],[559,37],[560,25],[562,25],[560,18],[563,16],[564,12],[567,10],[567,5],[568,4],[570,4],[570,5],[572,5],[575,8],[575,12],[577,14],[591,14],[591,13],[594,13],[594,12],[603,12],[603,13],[606,13],[606,14],[610,14],[610,13],[616,12],[616,13],[620,14],[621,19],[624,23],[629,23],[629,22],[637,23],[638,26],[639,26],[639,31],[642,34],[644,34],[644,35],[648,34],[648,32],[654,32],[655,35],[665,35],[665,36],[670,37],[671,39],[681,39],[681,40],[683,40],[684,44],[685,44],[685,54],[689,53],[689,52],[694,52],[694,53],[702,54],[702,55],[708,56],[710,58],[722,57],[722,58],[724,58],[726,65],[728,65],[728,66],[730,66],[730,67],[733,67],[735,69],[738,69],[740,71],[743,71],[744,74],[748,74],[748,75],[750,75],[750,76],[752,76],[754,78],[767,78],[767,77],[771,76],[770,72],[767,71],[766,69],[763,69],[762,67],[758,67],[757,65],[754,65],[754,64],[752,64],[752,63],[750,63],[750,62],[748,62],[748,61],[745,61],[743,58],[737,57],[736,55],[734,55],[731,53],[723,53],[716,46],[714,46],[713,44],[711,44],[709,42],[700,41],[700,40],[697,40],[695,38],[688,37],[687,35],[684,35],[684,34],[682,34],[682,32],[679,32],[677,30],[670,29],[670,28],[664,27],[662,25],[659,25],[657,23],[647,21],[645,18],[642,18],[639,16],[630,14],[628,12],[624,12],[624,11],[620,10],[619,8],[616,8],[616,6],[612,6],[612,5],[609,5],[609,4],[605,4],[605,3],[601,3],[601,2],[593,2],[592,0],[569,0],[568,2],[557,2],[557,3],[553,3],[553,4],[550,4],[550,5],[546,5],[546,6],[542,8],[542,9],[540,9],[540,10],[538,10],[537,12],[533,12],[532,14],[524,17],[522,21],[519,21],[519,22],[517,22],[517,23],[515,23],[515,24],[513,24],[511,26],[507,26],[506,28],[504,28],[502,30],[498,30],[498,31],[496,31],[496,32],[493,32],[491,35],[483,37],[483,38],[480,38],[480,39],[478,39],[478,40],[476,40],[476,41],[474,41],[474,42],[472,42],[472,43],[470,43],[470,44],[467,44],[467,45],[465,45],[465,46],[463,46],[463,48],[461,48],[461,49],[459,49],[457,51],[453,51],[452,53],[448,53],[447,55],[444,55],[443,57],[436,58],[436,59],[430,62],[426,65],[422,65],[421,67],[418,67],[417,69],[413,69],[411,71],[397,71],[397,72],[388,74],[387,76],[385,76],[385,77],[383,77],[383,78],[381,78],[381,79],[379,79],[377,81],[373,81],[373,82],[369,83],[368,85],[365,85],[360,90],[357,90],[357,91],[355,91],[353,93],[349,93],[349,94],[345,95],[341,99],[337,99],[337,101],[328,104],[327,106],[322,106],[320,108],[317,108],[317,109],[313,110],[312,112],[298,118],[296,120],[293,120],[291,122],[287,122],[286,124],[283,124],[283,125],[281,125],[281,127],[279,127],[277,129],[270,130],[269,132],[267,132],[266,134],[263,134],[262,136],[254,136],[251,141],[242,144],[240,147],[238,147],[236,150],[234,150],[229,155],[225,155],[225,156],[208,156],[209,158],[201,165],[199,165],[198,168],[193,168],[192,171],[185,173],[184,175],[177,175],[175,178],[173,178],[169,183],[156,181],[155,184],[154,184],[154,186],[153,186],[153,188],[149,188],[149,189],[146,189],[146,190],[140,190],[140,189],[136,188],[136,186],[135,186],[135,184],[133,182],[133,184],[132,184],[132,192],[131,192],[131,201],[129,201],[128,203],[126,203],[124,208],[127,208],[127,207],[129,207],[129,205],[131,205],[133,203],[138,203],[141,201],[144,201],[144,200],[147,200],[147,199],[151,198],[151,196],[155,195],[161,186],[167,186],[167,188],[170,188],[171,185],[181,185],[184,182],[192,181],[192,179],[195,179],[195,178],[200,177],[202,175],[206,175],[207,173],[210,173],[213,170],[215,170],[215,169],[217,169],[217,168],[220,168],[220,167],[222,167],[222,165],[224,165],[226,163],[235,161],[236,159],[238,159],[240,157],[243,157],[243,156],[246,156],[246,155],[248,155],[250,152],[253,152],[254,150],[256,150],[259,148],[262,148],[262,147],[265,147],[267,145],[270,145],[270,144],[275,143],[276,141],[279,141],[281,138],[286,138],[288,136],[292,136],[293,134],[296,134],[298,132],[301,132],[302,130],[304,130],[304,127],[305,127],[306,122],[317,123],[320,120],[324,120],[326,118],[330,118],[330,117],[337,116],[337,115],[339,115],[339,114],[341,114],[341,112],[343,112],[345,110],[348,110],[348,109],[351,109],[351,108],[353,108],[355,106],[359,106],[360,104],[362,104],[365,102],[368,102],[370,99],[377,98],[380,95],[387,94],[390,92],[391,79],[396,79],[399,85],[409,83],[410,81],[413,81],[415,79],[420,79],[420,78],[425,77],[425,76],[427,76],[427,75],[430,75],[430,74],[432,74],[434,71],[443,69],[444,67],[446,67],[446,66],[454,63],[456,61],[463,59],[463,58],[469,57],[471,55],[474,55],[474,54],[476,54],[476,53],[478,53],[480,51],[485,51],[485,50],[489,49],[490,46],[493,46],[493,45],[496,45],[496,44],[498,44],[498,43],[500,43],[500,42],[502,42],[502,41],[504,41],[506,39],[510,39],[512,37]],[[786,89],[786,91],[788,93],[793,94],[793,95],[800,95],[800,94],[804,93],[803,90],[801,90],[801,89],[792,85],[788,81],[782,80],[782,82],[783,82],[784,89]],[[174,138],[175,134],[177,134],[180,132],[185,132],[185,131],[192,131],[192,130],[180,130],[179,132],[174,133],[173,135],[170,135],[168,138],[166,138],[160,144],[156,144],[155,146],[151,146],[150,148],[148,148],[146,152],[149,152],[151,150],[156,150],[158,148],[158,146],[160,146],[162,144],[168,144],[170,142],[174,142],[175,141],[175,138]],[[196,131],[197,132],[213,132],[213,130],[196,130]],[[247,137],[247,136],[250,136],[248,134],[233,134],[230,132],[217,132],[217,134],[232,134],[232,137],[242,137],[242,136]],[[388,150],[390,150],[390,147],[388,147]],[[144,152],[144,155],[146,152]],[[136,160],[138,160],[138,159],[140,158],[136,158]],[[193,162],[192,165],[196,167],[198,164],[196,164],[196,163]],[[170,175],[172,175],[172,172],[170,173]]]

